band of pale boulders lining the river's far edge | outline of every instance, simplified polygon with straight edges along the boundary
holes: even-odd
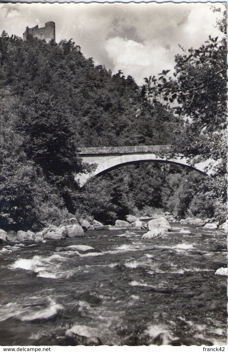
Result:
[[[158,219],[158,221],[156,221]],[[155,222],[154,222],[155,221]],[[176,216],[168,212],[160,212],[158,214],[144,215],[144,216],[134,216],[127,215],[125,220],[116,220],[115,226],[103,225],[101,222],[92,220],[88,221],[85,219],[70,218],[65,219],[59,226],[48,224],[46,227],[42,228],[41,231],[34,233],[30,230],[28,231],[18,231],[6,232],[0,229],[0,243],[14,242],[20,243],[25,241],[34,241],[46,243],[46,240],[59,240],[64,238],[73,237],[84,237],[87,231],[109,231],[109,230],[154,230],[162,229],[165,230],[160,235],[164,235],[167,231],[172,231],[169,223],[188,224],[197,225],[199,227],[216,229],[221,228],[224,231],[228,230],[228,220],[223,224],[219,225],[219,222],[215,222],[214,219],[201,219],[201,218],[186,218],[176,219]],[[157,233],[157,232],[156,232]],[[152,233],[153,234],[153,233]],[[159,234],[157,234],[159,235]],[[152,237],[151,237],[152,238]]]

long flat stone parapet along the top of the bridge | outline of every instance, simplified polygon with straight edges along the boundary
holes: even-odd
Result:
[[[79,154],[128,154],[128,153],[148,153],[159,150],[169,150],[171,145],[133,145],[121,147],[89,147],[80,148]]]

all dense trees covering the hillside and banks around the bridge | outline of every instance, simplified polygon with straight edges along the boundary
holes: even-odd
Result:
[[[225,32],[223,21],[218,22]],[[184,49],[183,49],[184,50]],[[107,223],[161,208],[183,218],[226,220],[226,43],[210,38],[176,56],[168,71],[139,87],[134,78],[86,59],[72,40],[46,44],[0,36],[0,223],[38,230],[75,215]],[[167,102],[177,101],[175,107]],[[211,158],[204,176],[170,164],[124,166],[92,178],[78,149],[171,144],[192,163]],[[168,155],[167,155],[168,156]]]

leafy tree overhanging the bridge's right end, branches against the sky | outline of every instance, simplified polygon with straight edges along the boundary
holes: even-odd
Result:
[[[215,9],[214,11],[220,11]],[[217,21],[221,31],[226,30],[226,13]],[[213,174],[198,184],[198,205],[206,207],[207,214],[216,214],[211,207],[214,202],[220,208],[217,217],[226,219],[226,117],[227,117],[227,46],[223,38],[211,38],[199,49],[182,48],[184,54],[175,57],[175,72],[169,70],[145,78],[144,105],[161,101],[169,106],[177,118],[182,119],[180,130],[173,130],[169,157],[176,155],[189,158],[194,165],[207,159],[213,165]],[[175,103],[175,107],[173,107]],[[166,156],[168,156],[166,154]],[[203,196],[207,194],[207,197]],[[196,193],[195,193],[196,195]],[[207,199],[207,204],[204,202]],[[210,201],[209,201],[210,199]],[[210,203],[210,205],[209,205]],[[221,206],[218,206],[218,203]],[[191,208],[193,209],[194,207]],[[212,210],[211,210],[212,209]],[[196,212],[195,212],[196,213]]]

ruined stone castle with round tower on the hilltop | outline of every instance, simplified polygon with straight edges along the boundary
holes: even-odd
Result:
[[[46,43],[49,43],[53,39],[55,43],[55,22],[46,22],[42,28],[38,28],[38,25],[33,28],[26,27],[23,33],[23,40],[27,40],[28,34],[34,38],[44,39]]]

